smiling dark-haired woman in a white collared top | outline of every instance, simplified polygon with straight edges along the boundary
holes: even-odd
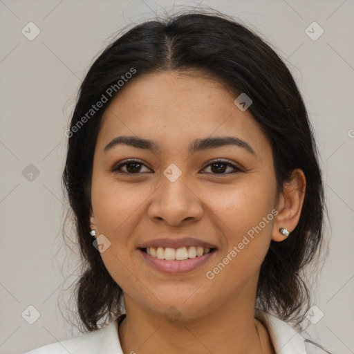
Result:
[[[66,136],[88,333],[29,353],[328,353],[286,323],[309,308],[324,195],[304,102],[261,38],[193,11],[134,27]]]

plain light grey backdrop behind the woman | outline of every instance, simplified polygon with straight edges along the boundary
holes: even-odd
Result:
[[[297,80],[315,129],[330,218],[330,252],[314,288],[317,323],[306,332],[332,353],[354,353],[354,1],[200,4],[255,30]],[[79,258],[62,237],[60,181],[77,89],[112,34],[185,5],[198,6],[0,0],[0,353],[78,334],[65,320]]]

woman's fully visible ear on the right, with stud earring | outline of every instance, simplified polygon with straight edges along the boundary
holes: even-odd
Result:
[[[306,178],[304,171],[295,169],[290,180],[283,184],[283,192],[279,195],[277,211],[274,218],[272,240],[283,241],[286,236],[279,232],[280,227],[292,232],[299,222],[306,190]],[[290,237],[290,236],[289,236]]]

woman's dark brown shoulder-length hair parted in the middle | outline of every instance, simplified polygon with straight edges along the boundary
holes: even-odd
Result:
[[[115,39],[95,59],[80,87],[62,180],[83,260],[75,289],[82,324],[95,330],[101,319],[111,321],[122,312],[122,289],[93,247],[89,221],[97,134],[104,109],[119,90],[108,97],[104,109],[79,122],[131,68],[136,73],[129,82],[146,73],[194,71],[208,73],[235,97],[246,93],[252,99],[248,110],[270,139],[279,191],[294,169],[304,171],[306,194],[299,223],[285,241],[271,241],[257,289],[257,308],[301,322],[310,301],[301,272],[318,259],[324,223],[322,174],[304,102],[287,66],[259,35],[220,13],[189,11],[146,21]]]

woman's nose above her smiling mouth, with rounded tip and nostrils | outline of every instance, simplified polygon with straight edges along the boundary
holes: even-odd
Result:
[[[180,226],[182,223],[194,223],[203,216],[203,202],[188,176],[182,174],[172,182],[162,176],[160,187],[153,194],[148,208],[148,216],[155,223],[167,223]]]

